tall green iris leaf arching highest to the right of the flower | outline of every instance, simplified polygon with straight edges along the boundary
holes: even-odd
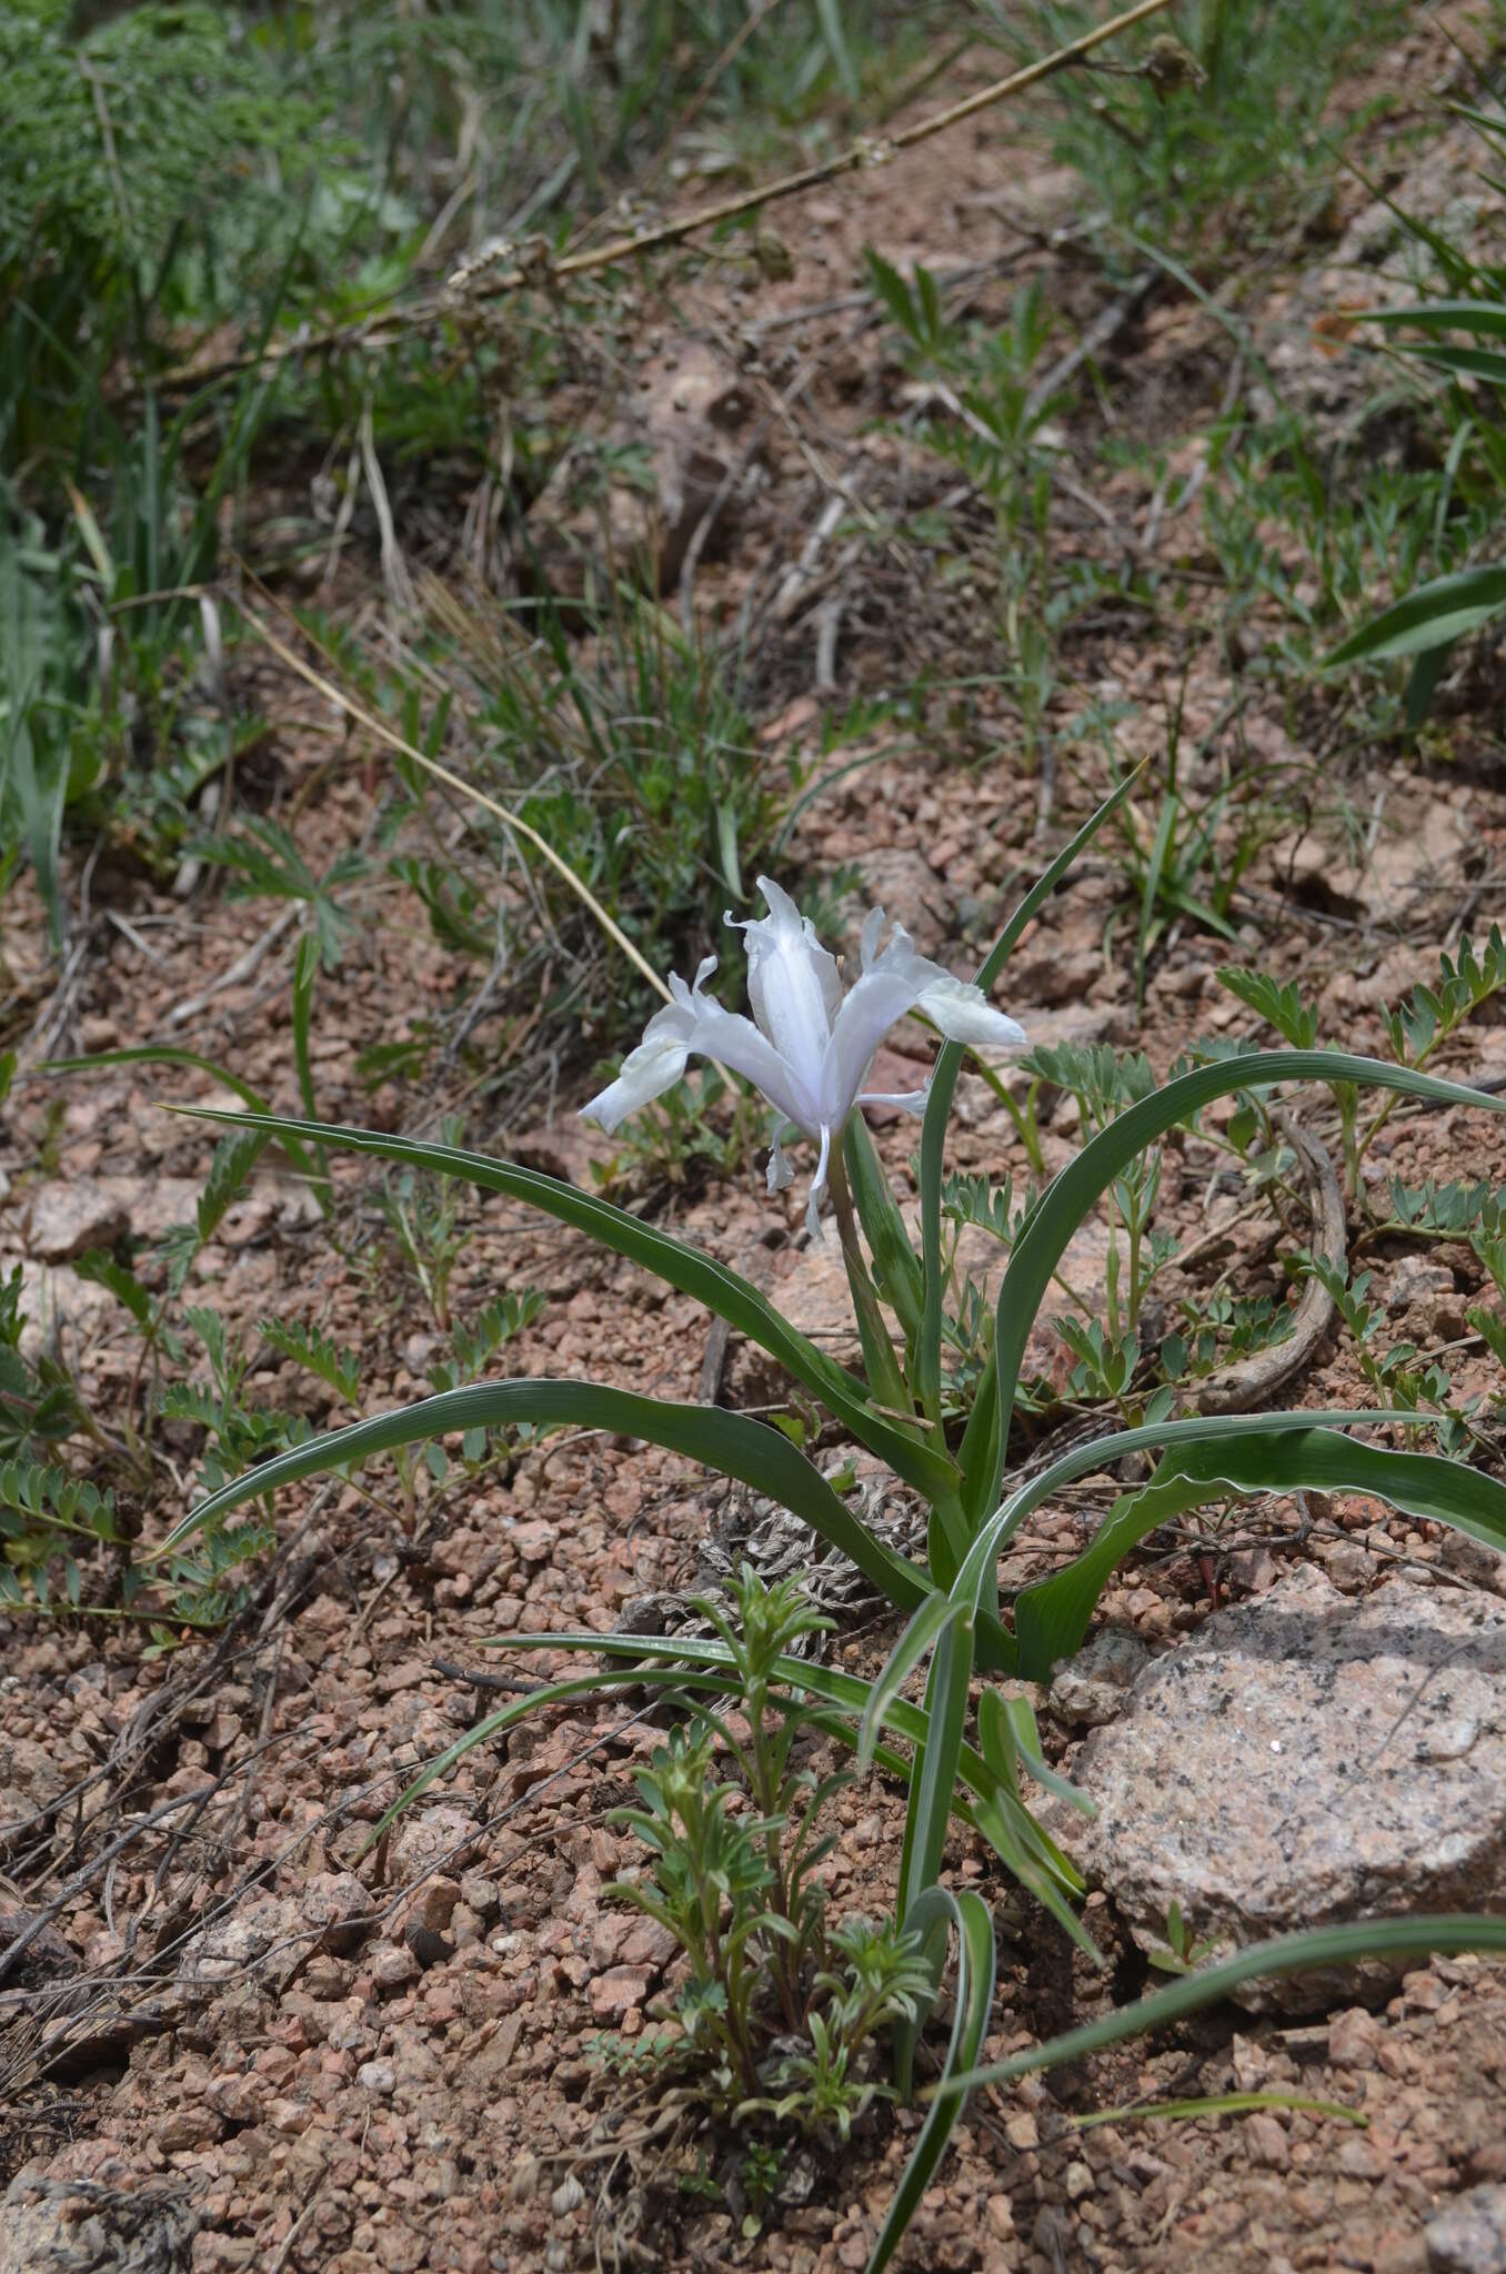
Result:
[[[1249,1051],[1240,1057],[1194,1067],[1190,1073],[1162,1082],[1149,1098],[1128,1105],[1051,1180],[1015,1242],[999,1287],[994,1355],[978,1383],[962,1435],[962,1505],[971,1528],[999,1505],[1019,1362],[1051,1273],[1067,1253],[1071,1235],[1087,1221],[1112,1180],[1124,1176],[1128,1164],[1169,1128],[1215,1098],[1267,1082],[1370,1082],[1410,1098],[1438,1098],[1442,1105],[1506,1110],[1501,1098],[1486,1096],[1481,1089],[1442,1082],[1413,1067],[1388,1067],[1379,1057],[1351,1057],[1347,1051]]]

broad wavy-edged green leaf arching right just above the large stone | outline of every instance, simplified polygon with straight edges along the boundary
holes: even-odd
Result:
[[[1015,1644],[1026,1680],[1049,1680],[1087,1633],[1110,1574],[1158,1524],[1224,1492],[1367,1492],[1408,1517],[1451,1524],[1506,1551],[1506,1485],[1438,1453],[1392,1453],[1333,1428],[1251,1433],[1176,1446],[1140,1492],[1126,1492],[1092,1546],[1015,1601]],[[926,1605],[930,1612],[930,1605]]]

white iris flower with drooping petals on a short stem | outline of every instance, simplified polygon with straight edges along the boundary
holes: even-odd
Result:
[[[842,1144],[842,1126],[853,1107],[903,1105],[905,1112],[921,1112],[926,1103],[924,1089],[864,1089],[878,1044],[905,1012],[921,1012],[949,1041],[1019,1046],[1026,1035],[987,1003],[980,987],[917,955],[903,926],[896,923],[880,948],[883,907],[871,910],[862,926],[862,969],[844,991],[837,960],[817,939],[810,916],[801,916],[771,878],[760,875],[758,889],[769,914],[737,926],[746,932],[753,1019],[723,1010],[705,994],[717,969],[714,955],[696,971],[694,987],[671,973],[673,1001],[653,1014],[637,1051],[628,1053],[617,1080],[582,1107],[582,1119],[614,1130],[628,1114],[673,1089],[692,1053],[714,1057],[719,1067],[744,1073],[821,1148],[805,1210],[805,1221],[819,1237],[817,1212],[833,1144]],[[735,919],[728,916],[728,923]],[[783,1192],[789,1182],[789,1164],[776,1135],[769,1192]]]

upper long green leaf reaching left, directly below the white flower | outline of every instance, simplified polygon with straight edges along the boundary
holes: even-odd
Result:
[[[958,1478],[951,1460],[921,1444],[908,1428],[876,1414],[867,1403],[867,1389],[858,1376],[837,1367],[814,1342],[796,1333],[758,1287],[751,1287],[737,1271],[728,1271],[726,1264],[703,1255],[701,1248],[692,1248],[682,1239],[671,1239],[667,1233],[642,1223],[621,1207],[612,1207],[610,1201],[596,1194],[578,1192],[576,1185],[564,1185],[555,1176],[541,1176],[537,1169],[519,1169],[514,1162],[491,1160],[487,1153],[466,1153],[462,1146],[387,1137],[380,1130],[355,1130],[332,1121],[234,1114],[209,1105],[184,1105],[175,1107],[175,1112],[187,1112],[205,1121],[237,1121],[266,1128],[271,1135],[282,1137],[284,1144],[291,1135],[318,1146],[339,1146],[348,1153],[373,1153],[378,1160],[398,1160],[414,1169],[430,1169],[435,1176],[460,1176],[469,1185],[480,1185],[482,1192],[503,1192],[512,1201],[528,1201],[530,1207],[555,1217],[557,1223],[571,1223],[576,1230],[598,1239],[603,1248],[612,1248],[614,1255],[626,1255],[630,1262],[653,1271],[669,1287],[694,1296],[696,1303],[705,1303],[710,1312],[735,1326],[739,1335],[746,1335],[748,1342],[778,1358],[796,1383],[803,1383],[812,1396],[830,1408],[858,1444],[887,1460],[894,1474],[903,1476],[917,1492],[924,1492],[928,1499],[955,1492]]]

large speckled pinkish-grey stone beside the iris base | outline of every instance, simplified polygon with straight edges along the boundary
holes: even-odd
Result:
[[[1506,1605],[1397,1578],[1360,1601],[1304,1567],[1135,1680],[1071,1778],[1074,1851],[1142,1947],[1176,1901],[1199,1942],[1383,1912],[1483,1910],[1506,1885]],[[1388,1967],[1297,1976],[1306,2010]]]

